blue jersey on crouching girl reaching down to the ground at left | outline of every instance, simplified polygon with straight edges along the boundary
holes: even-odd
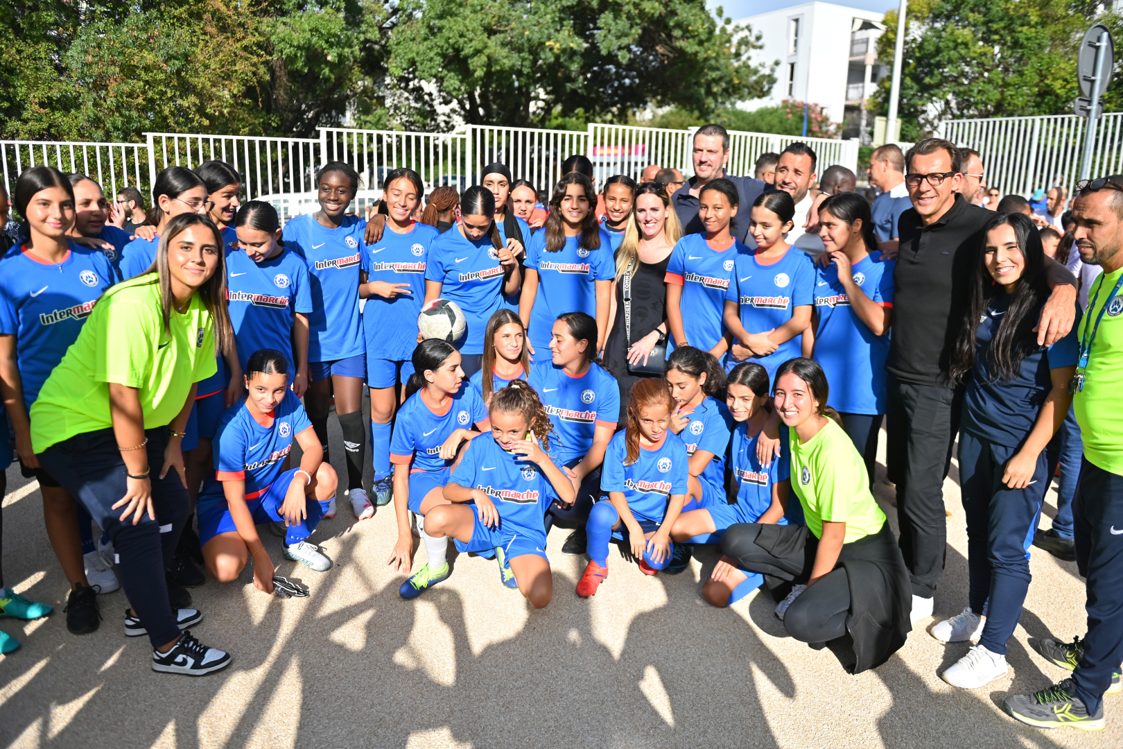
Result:
[[[293,392],[284,398],[264,422],[257,421],[239,399],[227,409],[214,432],[214,475],[208,477],[199,499],[220,499],[223,481],[246,482],[246,499],[255,500],[284,473],[285,458],[296,435],[311,429],[304,407]]]

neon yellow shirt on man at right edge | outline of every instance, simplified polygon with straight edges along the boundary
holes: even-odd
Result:
[[[1095,303],[1080,320],[1078,340],[1087,339],[1096,329],[1096,318],[1123,274],[1123,268],[1103,273],[1092,282],[1088,299]],[[1096,293],[1098,292],[1098,293]],[[1072,410],[1080,424],[1084,456],[1097,468],[1123,475],[1123,291],[1111,307],[1096,330],[1084,369],[1084,389],[1072,396]]]

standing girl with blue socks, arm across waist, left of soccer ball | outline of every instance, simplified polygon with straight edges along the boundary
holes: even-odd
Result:
[[[391,421],[398,407],[402,365],[417,347],[417,320],[424,296],[424,268],[437,230],[411,217],[424,195],[413,170],[398,168],[385,179],[383,208],[386,227],[382,238],[366,247],[359,271],[358,295],[365,299],[366,384],[371,389],[371,456],[374,462],[374,504],[390,502]],[[369,501],[351,509],[359,520],[374,515]]]

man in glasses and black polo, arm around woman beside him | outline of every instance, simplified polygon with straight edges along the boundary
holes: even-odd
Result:
[[[893,340],[886,363],[887,464],[897,485],[901,552],[913,588],[913,622],[932,614],[943,574],[947,518],[943,479],[959,431],[962,391],[948,378],[948,357],[967,308],[967,286],[978,263],[982,229],[994,217],[958,190],[959,149],[926,138],[905,156],[905,185],[913,207],[901,214],[901,248],[893,274]],[[1047,258],[1048,259],[1048,258]],[[1076,280],[1047,263],[1053,289],[1038,326],[1038,340],[1053,344],[1072,327]]]

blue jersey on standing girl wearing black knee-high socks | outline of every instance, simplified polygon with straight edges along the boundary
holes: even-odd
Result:
[[[308,360],[336,362],[359,356],[365,346],[358,313],[358,266],[366,221],[344,217],[336,229],[311,214],[284,226],[285,247],[308,264],[312,312],[308,316]]]

